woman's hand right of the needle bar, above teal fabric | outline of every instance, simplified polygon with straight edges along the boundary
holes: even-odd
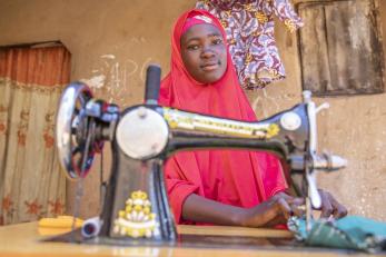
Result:
[[[345,206],[339,204],[331,194],[328,191],[318,189],[320,198],[321,198],[321,207],[320,207],[320,218],[343,218],[347,215],[347,209]]]

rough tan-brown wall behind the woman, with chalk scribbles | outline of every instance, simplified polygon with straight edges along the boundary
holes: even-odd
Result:
[[[2,0],[0,46],[61,40],[72,53],[72,80],[88,80],[97,97],[129,106],[142,100],[143,71],[149,62],[160,63],[164,73],[168,71],[171,24],[194,2]],[[382,1],[380,4],[386,24],[386,3]],[[276,29],[287,79],[264,90],[248,92],[259,118],[300,100],[296,36],[287,32],[281,23],[277,23]],[[386,34],[386,26],[383,33]],[[319,149],[328,149],[349,160],[347,169],[320,175],[320,186],[333,191],[352,214],[379,220],[386,220],[386,206],[383,205],[386,196],[383,187],[386,185],[383,156],[386,150],[385,99],[385,95],[316,99],[331,106],[318,120]],[[97,212],[97,171],[86,179],[81,206],[85,217]],[[69,200],[72,201],[75,187],[70,188]]]

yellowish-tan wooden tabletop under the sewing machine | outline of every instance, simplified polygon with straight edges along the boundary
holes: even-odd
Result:
[[[285,230],[255,229],[239,227],[217,226],[179,226],[181,235],[201,236],[229,236],[254,237],[254,238],[291,238]],[[38,234],[38,224],[28,223],[0,227],[0,256],[266,256],[266,257],[290,257],[290,256],[315,256],[335,257],[353,255],[353,251],[329,250],[318,248],[284,249],[275,246],[260,247],[258,249],[248,247],[118,247],[102,245],[77,245],[66,243],[41,241],[43,236]],[[367,256],[356,253],[355,256]],[[386,256],[380,255],[380,256]]]

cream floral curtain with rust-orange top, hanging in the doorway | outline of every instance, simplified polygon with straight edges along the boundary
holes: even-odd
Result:
[[[0,225],[65,210],[55,122],[69,76],[62,46],[0,48]]]

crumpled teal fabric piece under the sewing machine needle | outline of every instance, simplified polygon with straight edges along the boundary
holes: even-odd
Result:
[[[386,224],[359,216],[348,216],[338,220],[314,220],[306,230],[306,220],[293,217],[288,228],[296,238],[308,246],[344,248],[377,253],[386,250]]]

